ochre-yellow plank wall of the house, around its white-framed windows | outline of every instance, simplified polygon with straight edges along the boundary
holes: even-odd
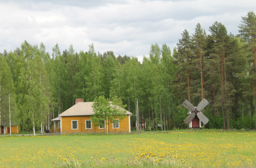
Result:
[[[104,131],[104,129],[99,129],[99,126],[94,126],[94,123],[92,123],[92,129],[85,129],[85,120],[91,120],[91,116],[62,116],[61,117],[61,126],[62,126],[62,132],[69,131],[76,132],[76,131],[92,131],[92,132],[98,132],[98,131]],[[71,121],[78,121],[78,129],[71,128]],[[106,122],[106,121],[105,121]],[[107,127],[109,132],[114,132],[115,128],[113,128],[113,124],[108,121],[105,125],[105,132],[107,132]],[[119,131],[129,131],[129,116],[126,115],[126,117],[123,120],[119,121],[119,128],[116,128],[116,132]]]

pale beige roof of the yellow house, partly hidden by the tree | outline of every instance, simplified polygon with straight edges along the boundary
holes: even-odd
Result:
[[[91,116],[94,114],[92,108],[93,102],[78,102],[71,108],[67,109],[63,113],[59,114],[59,116]],[[125,110],[125,114],[132,114]]]

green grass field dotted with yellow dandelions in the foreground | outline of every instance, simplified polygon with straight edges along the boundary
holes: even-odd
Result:
[[[71,159],[83,167],[256,167],[255,131],[7,136],[0,144],[0,167],[61,167]]]

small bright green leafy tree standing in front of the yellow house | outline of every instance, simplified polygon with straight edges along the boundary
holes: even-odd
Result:
[[[123,102],[120,98],[114,97],[113,101],[111,102],[108,98],[99,96],[93,101],[92,108],[94,114],[91,116],[91,120],[94,123],[94,126],[102,126],[102,121],[108,120],[110,123],[115,125],[116,132],[116,124],[118,119],[122,120],[125,117],[125,107],[126,105],[123,105]]]

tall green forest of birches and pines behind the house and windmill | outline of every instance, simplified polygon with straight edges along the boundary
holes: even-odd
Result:
[[[205,128],[256,128],[255,13],[237,26],[233,35],[215,22],[206,34],[198,23],[194,32],[181,33],[172,51],[152,44],[142,62],[113,51],[96,53],[93,44],[79,52],[72,44],[61,52],[56,44],[50,55],[43,43],[25,40],[0,53],[0,122],[9,125],[9,95],[11,120],[23,131],[49,129],[75,98],[103,95],[121,98],[132,123],[143,118],[149,130],[188,128],[182,102],[197,106],[203,98],[210,102],[202,111],[210,120]]]

